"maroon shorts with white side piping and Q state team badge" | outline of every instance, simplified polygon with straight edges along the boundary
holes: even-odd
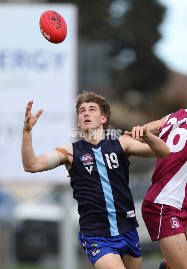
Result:
[[[141,213],[152,241],[170,235],[186,234],[187,212],[184,210],[144,200]]]

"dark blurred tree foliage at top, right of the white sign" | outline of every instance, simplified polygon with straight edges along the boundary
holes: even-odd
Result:
[[[131,89],[147,96],[158,92],[167,69],[153,49],[161,38],[158,29],[165,7],[157,0],[69,2],[79,7],[80,39],[109,44],[112,83],[118,98]]]

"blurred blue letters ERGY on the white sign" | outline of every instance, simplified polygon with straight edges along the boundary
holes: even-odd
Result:
[[[67,54],[46,50],[0,50],[0,72],[15,69],[30,69],[32,71],[60,71],[64,67]]]

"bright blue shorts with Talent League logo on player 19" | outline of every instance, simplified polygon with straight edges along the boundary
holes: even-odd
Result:
[[[141,257],[137,229],[128,231],[123,235],[110,237],[97,237],[79,234],[79,242],[89,260],[94,263],[107,253],[124,254],[132,257]]]

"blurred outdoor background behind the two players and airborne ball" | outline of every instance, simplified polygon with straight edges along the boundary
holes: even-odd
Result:
[[[93,268],[78,242],[77,204],[65,167],[40,176],[23,171],[20,152],[26,104],[35,100],[36,112],[46,105],[33,134],[33,140],[39,141],[33,145],[36,155],[65,142],[64,131],[76,126],[74,100],[83,90],[108,100],[111,128],[122,133],[186,108],[187,3],[7,0],[0,1],[0,8],[0,268]],[[61,44],[49,43],[40,32],[40,16],[48,9],[67,22],[67,37]],[[35,65],[26,61],[29,46],[37,47]],[[44,66],[46,57],[50,60]],[[52,71],[47,64],[54,65]],[[33,67],[29,75],[28,66]],[[156,160],[132,157],[130,161],[142,269],[157,269],[162,254],[141,217]]]

